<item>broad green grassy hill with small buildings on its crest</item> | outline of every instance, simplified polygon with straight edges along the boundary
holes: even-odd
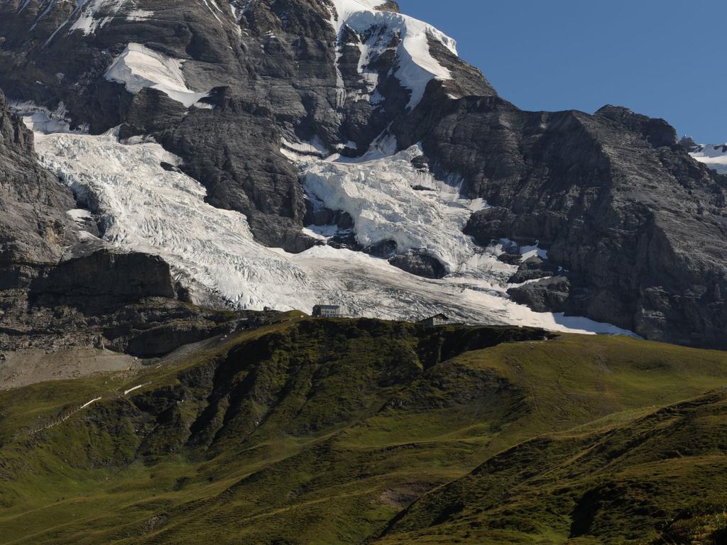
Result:
[[[487,543],[477,540],[491,529],[468,509],[486,512],[493,501],[478,483],[487,464],[513,458],[503,452],[531,452],[513,458],[522,459],[513,475],[554,472],[566,461],[577,468],[566,477],[588,474],[598,463],[581,466],[579,453],[592,443],[727,384],[723,352],[621,337],[543,339],[527,328],[297,318],[135,376],[0,392],[0,543],[449,543],[450,534]],[[700,434],[664,431],[680,445]],[[724,445],[715,445],[709,456],[720,464]],[[615,471],[601,468],[614,479]],[[713,489],[701,474],[687,475],[690,483]],[[547,486],[534,490],[550,498]],[[510,509],[513,524],[541,507],[547,517],[497,539],[561,543],[571,533],[631,531],[578,526],[595,508],[590,488],[570,486],[560,510],[523,492],[526,511]],[[656,518],[644,520],[656,528]]]

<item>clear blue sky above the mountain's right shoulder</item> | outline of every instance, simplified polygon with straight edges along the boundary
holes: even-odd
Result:
[[[398,0],[526,110],[623,105],[727,141],[725,0]]]

